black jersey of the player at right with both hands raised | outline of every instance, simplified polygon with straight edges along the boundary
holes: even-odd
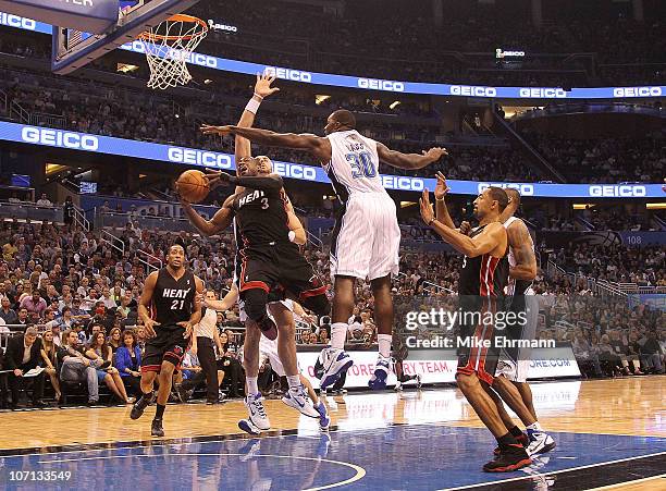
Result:
[[[485,225],[474,229],[469,236],[479,235]],[[459,295],[478,295],[482,297],[496,297],[504,294],[508,281],[508,259],[493,257],[484,254],[462,259],[460,279],[458,280]]]

